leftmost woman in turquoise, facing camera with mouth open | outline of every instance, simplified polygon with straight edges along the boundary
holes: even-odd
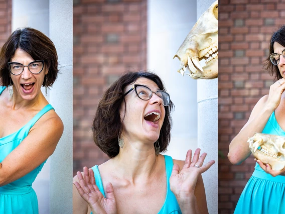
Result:
[[[54,152],[63,124],[41,92],[58,73],[52,41],[16,30],[0,52],[0,213],[38,213],[32,183]],[[8,87],[7,87],[8,86]]]

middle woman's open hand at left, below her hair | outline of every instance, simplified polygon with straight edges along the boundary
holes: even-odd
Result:
[[[106,185],[106,198],[100,192],[95,183],[94,172],[87,167],[83,168],[84,178],[80,172],[77,172],[79,183],[76,181],[74,185],[78,190],[80,196],[88,203],[93,214],[117,213],[116,201],[114,196],[114,189],[111,183]]]

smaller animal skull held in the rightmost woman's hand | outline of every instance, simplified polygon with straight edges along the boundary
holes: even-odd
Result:
[[[285,167],[285,137],[255,133],[247,142],[253,156],[262,163],[268,163],[273,170]]]

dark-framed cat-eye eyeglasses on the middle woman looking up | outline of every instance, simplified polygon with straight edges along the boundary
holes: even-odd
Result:
[[[127,95],[130,91],[134,89],[136,95],[138,98],[143,100],[149,100],[152,98],[153,93],[155,93],[157,96],[159,96],[163,100],[163,105],[168,106],[170,104],[170,95],[169,93],[165,92],[164,90],[158,90],[157,92],[152,91],[150,88],[148,88],[145,85],[133,85],[131,89],[129,89],[125,94]]]

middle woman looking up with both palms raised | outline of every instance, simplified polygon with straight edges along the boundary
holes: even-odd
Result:
[[[202,166],[199,149],[185,162],[159,154],[170,142],[173,107],[154,73],[129,72],[107,89],[92,129],[111,159],[77,172],[74,213],[208,213],[201,173],[214,161]]]

